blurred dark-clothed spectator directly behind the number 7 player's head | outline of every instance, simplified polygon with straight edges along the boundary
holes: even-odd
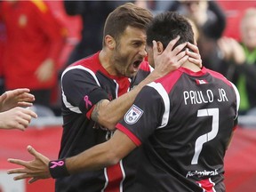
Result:
[[[227,68],[221,66],[217,41],[226,27],[226,16],[218,2],[173,1],[168,10],[180,12],[195,22],[200,34],[197,45],[204,66],[225,75]]]

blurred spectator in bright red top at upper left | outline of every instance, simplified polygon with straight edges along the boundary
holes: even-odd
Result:
[[[65,28],[44,1],[4,1],[0,14],[7,36],[3,55],[6,90],[28,87],[35,104],[51,107]]]

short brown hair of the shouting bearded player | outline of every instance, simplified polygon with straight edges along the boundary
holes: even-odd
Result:
[[[100,14],[100,12],[99,12]],[[153,14],[147,9],[126,3],[117,7],[108,15],[105,22],[103,36],[112,36],[116,41],[124,33],[124,30],[131,26],[141,28],[146,31],[148,23],[153,20]],[[103,46],[104,46],[103,40]]]

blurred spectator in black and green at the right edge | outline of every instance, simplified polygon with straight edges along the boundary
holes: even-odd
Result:
[[[241,43],[223,37],[219,47],[223,60],[230,65],[228,74],[240,92],[240,114],[256,115],[256,8],[249,8],[240,23]],[[252,112],[254,111],[254,112]]]

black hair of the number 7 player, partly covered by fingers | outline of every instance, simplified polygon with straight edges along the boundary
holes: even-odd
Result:
[[[194,32],[189,21],[177,12],[162,12],[153,19],[147,28],[147,44],[153,46],[152,41],[160,41],[164,49],[172,39],[180,36],[180,40],[173,49],[185,42],[194,44]]]

